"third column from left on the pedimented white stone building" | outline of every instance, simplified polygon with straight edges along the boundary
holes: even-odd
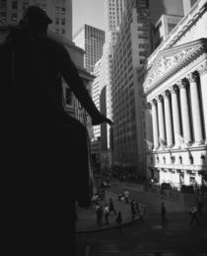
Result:
[[[173,124],[172,124],[172,110],[170,102],[170,92],[166,91],[164,94],[165,118],[166,118],[166,136],[169,147],[173,146]]]

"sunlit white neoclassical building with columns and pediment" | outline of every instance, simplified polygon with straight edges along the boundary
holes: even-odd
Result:
[[[207,180],[206,10],[197,1],[139,71],[147,177],[177,189]]]

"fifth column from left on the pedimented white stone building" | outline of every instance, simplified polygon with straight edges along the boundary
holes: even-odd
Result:
[[[182,120],[182,130],[183,130],[183,137],[185,142],[191,141],[191,128],[190,128],[190,117],[189,117],[189,106],[187,100],[187,82],[179,81],[177,85],[180,89],[180,105],[181,105],[181,120]]]

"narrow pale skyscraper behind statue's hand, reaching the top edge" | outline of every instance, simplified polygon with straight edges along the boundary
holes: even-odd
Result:
[[[100,87],[100,101],[102,101],[102,110],[104,114],[112,119],[111,110],[111,61],[113,57],[113,46],[116,43],[117,34],[121,20],[123,17],[123,11],[125,8],[125,1],[123,0],[106,0],[104,1],[104,14],[106,22],[106,36],[104,43],[104,51],[100,64],[99,72],[99,87]],[[97,83],[93,83],[93,86],[98,86]],[[102,95],[101,95],[102,92]],[[104,102],[105,101],[105,102]],[[111,128],[103,124],[101,129],[101,165],[102,167],[110,167],[113,162],[112,148],[111,148]]]

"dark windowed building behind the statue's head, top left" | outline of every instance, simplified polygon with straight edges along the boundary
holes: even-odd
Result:
[[[72,0],[1,0],[0,18],[8,24],[17,24],[31,5],[40,7],[52,19],[50,31],[72,41]]]

